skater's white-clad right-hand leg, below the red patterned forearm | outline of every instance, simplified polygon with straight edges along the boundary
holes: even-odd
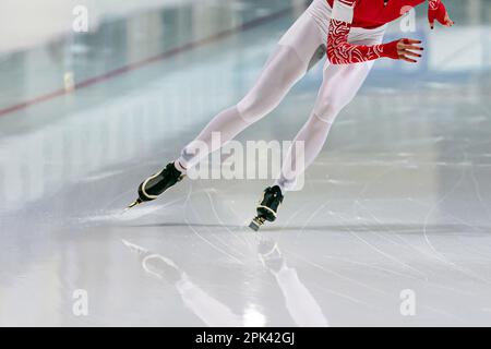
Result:
[[[374,38],[363,38],[360,44],[373,45],[373,43],[381,41],[382,37],[383,32]],[[372,67],[373,62],[349,65],[334,65],[326,62],[315,107],[307,123],[297,134],[275,183],[283,192],[291,190],[298,176],[315,160],[324,146],[334,120],[356,96]],[[296,149],[300,142],[303,143],[303,152],[297,154]]]

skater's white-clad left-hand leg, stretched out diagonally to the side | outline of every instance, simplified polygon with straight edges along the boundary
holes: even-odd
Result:
[[[182,149],[181,157],[176,161],[177,167],[182,170],[196,165],[276,108],[294,84],[306,74],[312,56],[322,44],[323,38],[315,22],[309,14],[303,14],[282,38],[252,89],[239,104],[218,113]],[[216,132],[219,132],[220,142],[212,142]]]

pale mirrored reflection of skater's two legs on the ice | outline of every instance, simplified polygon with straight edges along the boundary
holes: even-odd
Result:
[[[161,287],[175,287],[183,305],[191,310],[206,326],[262,327],[268,325],[268,318],[261,312],[259,304],[248,303],[242,314],[219,301],[192,280],[181,267],[158,253],[122,240],[122,243],[137,256],[143,270],[164,284]],[[287,265],[286,258],[275,240],[258,238],[255,253],[262,267],[270,272],[277,282],[284,298],[284,304],[297,326],[328,326],[328,321],[309,289],[298,277],[297,270]]]

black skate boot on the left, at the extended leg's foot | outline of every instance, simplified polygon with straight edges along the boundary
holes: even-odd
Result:
[[[170,186],[180,182],[185,174],[182,174],[175,166],[170,163],[160,172],[148,177],[139,186],[139,198],[132,203],[128,208],[132,208],[141,203],[149,202],[157,198],[161,193],[168,190]]]

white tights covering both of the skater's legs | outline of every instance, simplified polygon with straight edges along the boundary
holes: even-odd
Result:
[[[328,19],[324,23],[319,24],[309,10],[303,13],[280,39],[246,97],[236,106],[218,113],[197,137],[182,149],[178,163],[189,169],[275,109],[295,83],[306,74],[316,49],[326,44],[325,26]],[[350,41],[362,45],[380,44],[383,33],[384,28],[352,29]],[[291,189],[295,179],[314,161],[336,116],[355,97],[372,65],[373,62],[350,65],[332,65],[328,61],[325,63],[323,83],[313,112],[294,141],[294,146],[295,142],[303,142],[304,166],[297,166],[295,152],[287,154],[280,177],[276,181],[283,191]],[[213,132],[220,133],[220,144],[212,143]],[[200,147],[203,143],[206,147]]]

